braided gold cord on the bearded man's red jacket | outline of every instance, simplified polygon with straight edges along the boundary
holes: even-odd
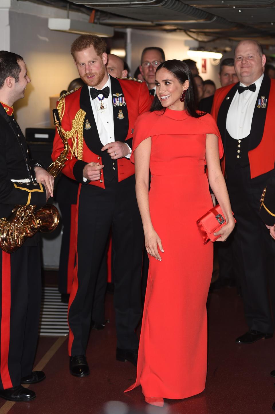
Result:
[[[62,124],[62,118],[65,112],[65,99],[63,97],[62,99],[60,99],[57,105],[57,110],[58,110],[59,118]],[[80,108],[77,111],[76,116],[72,120],[71,130],[65,131],[62,128],[62,133],[64,134],[64,136],[67,138],[67,140],[71,138],[72,143],[73,143],[72,147],[69,147],[71,151],[71,159],[73,155],[75,155],[77,159],[81,159],[81,160],[83,157],[83,124],[84,124],[85,116],[86,116],[86,112]]]

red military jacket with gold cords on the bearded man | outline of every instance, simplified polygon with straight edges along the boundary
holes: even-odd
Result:
[[[114,99],[115,94],[117,94],[121,98],[124,97],[124,101],[126,102],[126,105],[113,106],[114,138],[116,141],[127,142],[129,147],[132,147],[135,120],[140,114],[148,111],[151,106],[149,90],[145,82],[130,78],[114,78],[112,76],[110,79],[110,94],[112,98]],[[84,86],[61,97],[57,108],[63,133],[68,138],[71,148],[68,154],[68,161],[62,172],[69,178],[85,184],[83,182],[83,168],[85,165],[92,161],[103,164],[101,152],[103,145],[98,139],[88,87]],[[119,111],[123,112],[123,119],[118,117]],[[96,140],[99,143],[97,151],[94,149]],[[62,140],[56,133],[53,143],[52,159],[57,159],[63,149]],[[117,160],[117,175],[119,181],[128,178],[134,173],[135,167],[129,159],[123,157]],[[88,184],[105,188],[104,168],[102,169],[101,179],[98,181],[88,181]]]

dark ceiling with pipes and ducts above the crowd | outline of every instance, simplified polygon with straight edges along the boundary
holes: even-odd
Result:
[[[114,27],[187,31],[196,39],[258,39],[275,44],[275,0],[70,0]]]

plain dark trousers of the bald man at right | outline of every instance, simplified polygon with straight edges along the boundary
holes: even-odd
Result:
[[[244,314],[249,329],[273,332],[268,285],[274,279],[273,239],[259,215],[269,173],[250,178],[250,168],[226,167],[227,186],[237,220],[232,247],[237,258]]]

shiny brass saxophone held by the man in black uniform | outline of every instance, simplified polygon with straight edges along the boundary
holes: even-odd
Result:
[[[57,132],[64,144],[64,150],[59,157],[47,168],[54,178],[62,170],[67,161],[69,144],[62,133],[60,118],[57,109],[53,111],[54,123]],[[0,247],[6,253],[15,252],[21,247],[26,238],[33,237],[38,230],[50,233],[59,223],[59,212],[53,205],[37,208],[35,205],[17,205],[11,216],[0,219]]]

